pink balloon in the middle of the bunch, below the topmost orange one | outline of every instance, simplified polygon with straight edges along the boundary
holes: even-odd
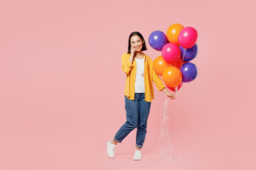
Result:
[[[175,64],[181,58],[181,49],[174,43],[167,43],[161,50],[161,55],[169,64]]]

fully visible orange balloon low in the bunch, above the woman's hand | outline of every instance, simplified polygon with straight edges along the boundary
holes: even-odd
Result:
[[[163,72],[163,80],[167,86],[176,87],[181,84],[182,74],[181,71],[174,66],[167,67]]]

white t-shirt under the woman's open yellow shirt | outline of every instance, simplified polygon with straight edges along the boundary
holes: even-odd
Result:
[[[145,81],[144,81],[144,62],[145,58],[137,59],[136,79],[135,79],[135,93],[145,92]]]

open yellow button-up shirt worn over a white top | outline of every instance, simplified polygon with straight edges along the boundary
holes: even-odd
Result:
[[[166,86],[163,81],[159,78],[159,76],[154,72],[153,69],[153,60],[147,55],[144,55],[145,64],[144,64],[144,81],[145,81],[145,101],[151,102],[154,99],[154,88],[153,81],[156,85],[156,88],[159,91],[162,91]],[[122,59],[122,70],[125,74],[127,74],[127,79],[125,81],[125,89],[124,95],[127,96],[128,99],[134,100],[135,96],[135,78],[136,78],[136,60],[133,60],[132,63],[129,62],[129,57],[131,54],[127,54],[125,52]]]

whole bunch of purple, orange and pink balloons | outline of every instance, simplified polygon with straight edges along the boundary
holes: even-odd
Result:
[[[156,30],[149,35],[149,45],[161,51],[153,68],[171,91],[181,89],[183,82],[196,79],[198,68],[190,61],[198,55],[198,32],[179,23],[169,26],[167,33]]]

